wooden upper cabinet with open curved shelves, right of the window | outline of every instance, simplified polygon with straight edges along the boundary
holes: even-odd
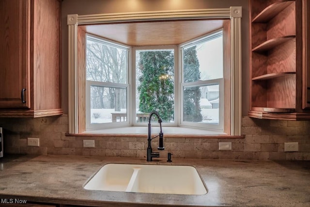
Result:
[[[250,0],[249,117],[310,119],[305,4],[307,0]]]

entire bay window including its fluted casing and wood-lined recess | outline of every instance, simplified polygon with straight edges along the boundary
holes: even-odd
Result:
[[[166,127],[240,135],[240,11],[69,15],[69,133],[143,127],[158,111]]]

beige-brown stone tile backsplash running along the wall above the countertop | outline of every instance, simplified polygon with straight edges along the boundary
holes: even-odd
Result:
[[[42,118],[0,118],[4,128],[5,153],[40,155],[81,155],[145,158],[147,135],[66,136],[68,115]],[[193,159],[287,159],[310,160],[310,121],[242,118],[245,138],[188,138],[165,135],[165,150],[172,158]],[[27,146],[27,138],[40,138],[40,147]],[[95,147],[83,148],[92,139]],[[218,150],[218,142],[231,142],[232,150]],[[298,142],[298,152],[284,152],[285,142]],[[153,143],[156,146],[156,142]]]

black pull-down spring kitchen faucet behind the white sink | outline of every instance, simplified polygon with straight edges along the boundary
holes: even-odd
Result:
[[[158,119],[158,123],[159,123],[159,126],[160,126],[160,132],[157,136],[151,138],[151,118],[152,116],[155,115]],[[161,129],[161,123],[163,121],[161,120],[161,118],[159,117],[159,114],[157,111],[153,111],[150,113],[149,115],[149,124],[148,124],[148,138],[147,138],[147,142],[148,142],[148,145],[147,145],[147,150],[146,150],[146,153],[147,153],[147,158],[146,158],[146,161],[148,162],[151,162],[153,161],[153,158],[159,158],[159,152],[153,152],[153,149],[152,149],[152,145],[151,145],[151,141],[158,137],[159,136],[159,145],[157,147],[158,150],[164,150],[165,147],[164,147],[164,133]]]

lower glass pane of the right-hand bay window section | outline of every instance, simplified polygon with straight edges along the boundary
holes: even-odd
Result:
[[[219,123],[219,85],[183,89],[183,121]]]

